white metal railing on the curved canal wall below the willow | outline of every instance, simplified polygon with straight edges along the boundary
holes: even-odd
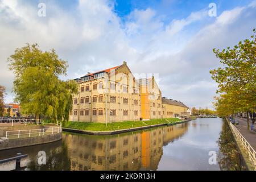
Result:
[[[16,138],[27,138],[27,137],[38,137],[44,135],[53,135],[61,133],[61,125],[55,127],[47,127],[43,129],[33,129],[33,130],[14,130],[6,131],[6,139],[16,139]]]

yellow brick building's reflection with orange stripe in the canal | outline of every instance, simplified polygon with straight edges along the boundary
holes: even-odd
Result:
[[[113,136],[65,133],[71,170],[156,170],[163,146],[181,137],[188,123]]]

